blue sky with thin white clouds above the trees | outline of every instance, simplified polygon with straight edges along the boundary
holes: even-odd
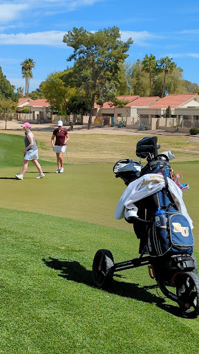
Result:
[[[117,26],[132,37],[129,62],[146,54],[169,56],[184,80],[199,84],[199,2],[133,0],[0,0],[0,66],[16,88],[25,87],[20,63],[34,60],[30,92],[55,71],[70,65],[62,42],[73,27],[88,31]]]

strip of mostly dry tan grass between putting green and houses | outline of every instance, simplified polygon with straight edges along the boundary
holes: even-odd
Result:
[[[7,149],[7,151],[9,151],[11,147],[12,149],[15,147],[15,153],[13,154],[13,150],[11,149],[10,155],[10,157],[12,156],[12,160],[14,160],[15,154],[21,154],[23,151],[21,146],[23,146],[24,133],[23,131],[2,132],[3,133],[0,133],[0,144],[3,146],[6,142],[8,149],[7,147],[5,147],[5,149]],[[133,160],[138,160],[138,156],[135,155],[136,144],[138,140],[146,137],[146,133],[138,132],[136,135],[135,133],[132,135],[131,131],[129,131],[128,134],[129,135],[104,135],[100,134],[100,129],[99,134],[87,134],[84,132],[81,134],[75,133],[75,131],[70,131],[70,140],[67,144],[68,160],[70,163],[75,165],[97,162],[111,162],[114,165],[117,160],[121,160],[123,158],[133,158]],[[48,162],[55,162],[55,152],[53,152],[50,142],[52,132],[34,131],[34,135],[39,147],[39,158]],[[13,144],[12,139],[15,139]],[[158,136],[158,144],[161,146],[160,151],[165,151],[168,149],[173,151],[173,153],[176,155],[175,162],[199,160],[199,138],[174,135]],[[21,157],[23,157],[23,154]],[[13,161],[12,163],[15,162]]]

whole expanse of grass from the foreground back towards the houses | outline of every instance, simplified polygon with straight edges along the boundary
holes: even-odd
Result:
[[[12,157],[8,138],[15,141]],[[70,138],[72,145],[72,134]],[[98,150],[105,149],[106,140],[111,144],[109,138],[104,137],[103,144],[98,139]],[[79,146],[77,136],[74,139]],[[111,250],[116,262],[138,256],[131,225],[113,218],[125,189],[113,174],[113,164],[132,157],[125,155],[126,149],[122,148],[122,156],[117,151],[117,158],[115,151],[106,158],[103,150],[99,159],[105,163],[94,163],[97,145],[92,154],[88,145],[84,151],[87,163],[80,164],[78,156],[76,163],[69,156],[68,147],[72,165],[57,176],[55,156],[50,160],[46,145],[42,156],[39,150],[46,177],[36,180],[37,170],[32,166],[21,181],[15,174],[23,159],[19,153],[23,138],[0,134],[0,143],[0,353],[197,353],[198,319],[181,317],[178,305],[157,292],[146,267],[115,274],[109,291],[92,287],[93,257],[99,248]],[[167,145],[166,138],[163,145]],[[169,149],[173,150],[170,145]],[[190,151],[184,149],[184,156],[191,160]],[[194,152],[193,162],[177,161],[172,167],[190,185],[184,203],[193,218],[199,250],[196,156]],[[199,261],[198,256],[196,252]]]

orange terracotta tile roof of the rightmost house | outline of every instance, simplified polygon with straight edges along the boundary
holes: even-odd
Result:
[[[176,108],[178,106],[180,106],[181,104],[184,104],[185,102],[191,100],[192,98],[196,97],[199,95],[197,93],[184,93],[181,95],[167,95],[163,98],[161,98],[160,100],[158,100],[157,102],[154,102],[153,104],[151,104],[149,106],[149,109],[161,109],[161,108],[165,108],[167,109],[168,106],[171,106],[171,108]]]

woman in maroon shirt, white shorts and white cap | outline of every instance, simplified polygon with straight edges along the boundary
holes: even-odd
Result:
[[[55,145],[54,145],[54,139]],[[53,147],[53,151],[55,151],[57,155],[57,174],[62,174],[64,172],[63,167],[63,153],[66,152],[66,142],[69,140],[68,131],[63,128],[62,120],[57,122],[57,129],[53,131],[53,136],[51,138],[51,145]]]

